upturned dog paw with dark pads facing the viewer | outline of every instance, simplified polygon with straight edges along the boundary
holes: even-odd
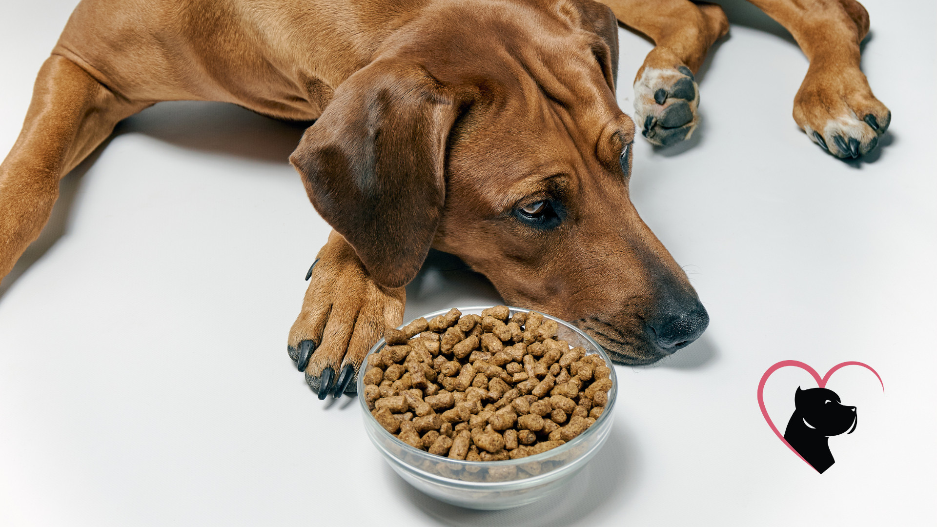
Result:
[[[690,139],[699,102],[699,87],[686,66],[646,67],[634,83],[634,120],[647,141],[659,146]]]

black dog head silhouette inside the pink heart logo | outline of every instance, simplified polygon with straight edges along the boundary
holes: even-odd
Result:
[[[784,440],[794,447],[820,474],[836,462],[829,451],[830,436],[853,433],[858,417],[855,406],[840,404],[840,396],[826,388],[801,390],[794,394],[794,414],[787,422]]]

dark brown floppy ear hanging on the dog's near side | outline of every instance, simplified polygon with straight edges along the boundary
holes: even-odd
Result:
[[[381,285],[406,285],[426,258],[446,143],[467,104],[424,68],[374,62],[338,86],[290,156],[316,210]]]

